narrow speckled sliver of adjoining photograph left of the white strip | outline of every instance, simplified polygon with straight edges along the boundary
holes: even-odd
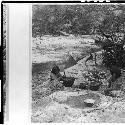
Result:
[[[8,6],[6,4],[2,4],[3,6],[3,114],[4,121],[7,120],[7,107],[8,107],[8,83],[7,83],[7,19],[8,19]]]

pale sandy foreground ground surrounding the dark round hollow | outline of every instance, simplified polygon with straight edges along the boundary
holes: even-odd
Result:
[[[32,122],[53,123],[94,123],[94,122],[125,122],[125,100],[118,101],[111,97],[100,95],[101,103],[97,108],[75,108],[65,103],[68,97],[84,95],[86,91],[78,92],[55,92],[35,104],[37,109],[33,111]],[[91,92],[89,92],[91,93]],[[94,93],[94,92],[92,92]],[[73,98],[72,98],[73,102]],[[75,103],[77,103],[74,100]]]

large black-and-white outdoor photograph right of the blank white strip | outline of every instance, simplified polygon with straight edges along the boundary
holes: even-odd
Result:
[[[32,4],[32,123],[125,123],[125,4]]]

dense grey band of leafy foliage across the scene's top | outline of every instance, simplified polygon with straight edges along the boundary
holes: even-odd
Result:
[[[125,7],[116,5],[34,5],[33,35],[124,31]]]

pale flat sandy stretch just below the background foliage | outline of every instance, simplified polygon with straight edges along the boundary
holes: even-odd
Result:
[[[83,50],[90,51],[90,48],[98,48],[93,45],[93,39],[84,39],[82,37],[42,37],[41,39],[33,38],[32,44],[32,61],[41,63],[47,61],[59,61],[66,58],[67,52],[71,55],[78,56]]]

